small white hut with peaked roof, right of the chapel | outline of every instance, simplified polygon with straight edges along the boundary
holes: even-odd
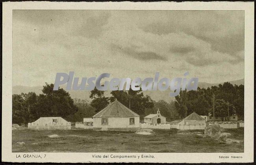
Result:
[[[177,129],[205,129],[206,120],[193,112],[177,125]]]

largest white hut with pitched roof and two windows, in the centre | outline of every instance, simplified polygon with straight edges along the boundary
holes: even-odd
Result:
[[[93,116],[93,129],[104,131],[137,131],[139,115],[115,100]]]

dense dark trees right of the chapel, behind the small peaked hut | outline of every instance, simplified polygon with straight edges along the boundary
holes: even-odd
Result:
[[[244,118],[244,85],[232,85],[229,82],[219,86],[199,88],[197,91],[180,91],[175,97],[175,107],[184,118],[193,111],[199,115],[227,117],[236,114]],[[213,106],[214,105],[214,106]]]

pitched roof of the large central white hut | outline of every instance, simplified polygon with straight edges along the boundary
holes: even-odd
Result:
[[[139,115],[115,100],[93,116],[93,118],[106,117],[139,117]]]

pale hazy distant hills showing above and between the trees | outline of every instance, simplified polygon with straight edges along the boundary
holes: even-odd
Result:
[[[206,82],[198,82],[198,87],[200,88],[208,88],[211,86],[218,86],[219,84],[222,83],[206,83]],[[244,79],[241,80],[236,80],[236,81],[230,81],[233,85],[244,85]],[[35,92],[37,95],[42,94],[42,86],[35,86],[35,87],[28,87],[28,86],[22,86],[22,85],[17,85],[13,86],[13,94],[20,94],[20,93],[28,93],[28,92]],[[65,89],[65,87],[63,86]],[[68,91],[71,98],[77,98],[77,99],[82,99],[82,100],[91,100],[89,98],[90,96],[90,91]],[[148,95],[152,98],[152,100],[158,101],[158,100],[165,100],[166,102],[170,102],[174,100],[174,97],[170,97],[169,93],[171,91],[166,90],[166,91],[143,91],[144,95]],[[109,97],[111,96],[110,91],[105,92],[105,96]]]

